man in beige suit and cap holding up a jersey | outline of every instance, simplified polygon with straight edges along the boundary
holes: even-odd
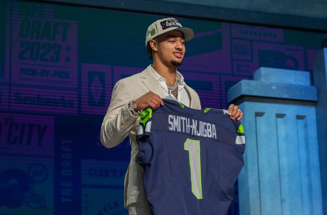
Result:
[[[161,98],[201,109],[198,94],[186,85],[177,71],[185,54],[185,41],[193,37],[193,30],[182,27],[174,18],[152,23],[146,32],[146,48],[153,64],[141,73],[121,79],[112,90],[110,106],[101,126],[101,143],[108,148],[114,147],[129,135],[132,149],[124,189],[129,214],[151,214],[144,192],[143,169],[135,161],[139,150],[136,135],[140,111],[149,106],[156,110],[164,105]],[[233,104],[229,112],[232,120],[243,117],[238,106]]]

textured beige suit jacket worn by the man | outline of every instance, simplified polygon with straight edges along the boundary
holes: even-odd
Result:
[[[184,86],[191,98],[190,107],[201,109],[198,94],[186,84]],[[139,151],[136,142],[139,117],[131,115],[128,102],[149,91],[165,98],[159,81],[152,75],[150,66],[141,73],[118,81],[112,90],[111,102],[101,125],[101,143],[107,148],[117,146],[129,135],[131,157],[125,175],[125,207],[131,203],[147,201],[143,186],[143,168],[135,161]]]

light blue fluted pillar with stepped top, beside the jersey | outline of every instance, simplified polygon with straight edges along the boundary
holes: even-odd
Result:
[[[322,215],[317,89],[310,73],[260,68],[227,98],[245,113],[240,214]]]

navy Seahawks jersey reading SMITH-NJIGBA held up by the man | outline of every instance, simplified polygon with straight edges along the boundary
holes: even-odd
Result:
[[[244,165],[241,122],[227,110],[163,99],[140,116],[136,162],[154,214],[227,214]]]

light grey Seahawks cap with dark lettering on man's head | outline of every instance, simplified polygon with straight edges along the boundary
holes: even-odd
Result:
[[[185,41],[194,37],[194,31],[191,28],[182,27],[181,23],[175,18],[165,18],[155,21],[147,28],[145,45],[151,39],[174,30],[181,31],[184,34]]]

